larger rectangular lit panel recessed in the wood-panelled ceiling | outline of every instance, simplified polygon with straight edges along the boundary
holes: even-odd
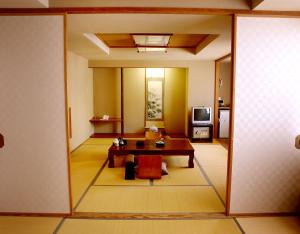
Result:
[[[132,35],[137,47],[167,47],[170,35]]]

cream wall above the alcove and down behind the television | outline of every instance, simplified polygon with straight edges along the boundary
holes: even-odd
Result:
[[[188,68],[188,111],[193,106],[214,106],[214,61],[89,61],[90,67]],[[212,115],[213,116],[213,115]]]

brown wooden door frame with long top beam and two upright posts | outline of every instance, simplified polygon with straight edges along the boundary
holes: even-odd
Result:
[[[1,15],[63,15],[64,16],[64,82],[65,82],[65,115],[66,115],[66,136],[67,136],[67,162],[68,162],[68,181],[69,181],[69,203],[70,213],[72,214],[72,193],[71,193],[71,172],[70,172],[70,123],[68,113],[68,90],[67,90],[67,16],[68,14],[183,14],[183,15],[227,15],[232,17],[232,37],[231,37],[231,112],[230,112],[230,142],[228,150],[227,164],[227,186],[226,186],[226,215],[230,213],[230,195],[232,179],[232,152],[233,152],[233,131],[234,131],[234,101],[235,101],[235,69],[236,69],[236,19],[237,16],[252,17],[282,17],[282,18],[299,18],[299,11],[253,11],[239,9],[209,9],[209,8],[160,8],[160,7],[81,7],[81,8],[2,8]],[[216,105],[216,104],[215,104]],[[20,213],[15,213],[16,215]],[[10,214],[11,215],[11,214]],[[25,215],[30,215],[26,213]],[[45,216],[64,216],[64,214],[39,214]]]

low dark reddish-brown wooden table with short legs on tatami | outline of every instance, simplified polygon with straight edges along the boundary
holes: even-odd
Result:
[[[108,167],[114,167],[114,156],[118,155],[188,155],[188,167],[194,167],[194,148],[187,139],[166,139],[163,147],[156,147],[155,140],[145,140],[144,146],[136,146],[137,140],[127,140],[126,146],[112,145],[108,150]]]

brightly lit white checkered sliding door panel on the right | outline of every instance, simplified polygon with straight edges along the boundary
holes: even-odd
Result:
[[[300,19],[237,17],[231,213],[299,204]]]

